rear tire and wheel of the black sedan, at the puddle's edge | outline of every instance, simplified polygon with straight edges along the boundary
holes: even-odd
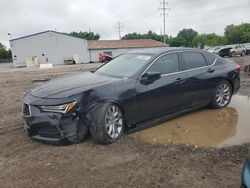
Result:
[[[220,109],[228,106],[232,98],[232,86],[224,80],[215,87],[210,106],[214,109]]]

